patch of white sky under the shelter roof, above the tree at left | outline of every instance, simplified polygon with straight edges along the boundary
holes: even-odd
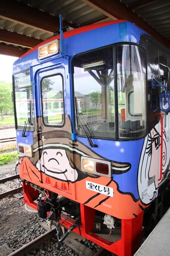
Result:
[[[12,65],[17,57],[0,54],[0,81],[12,82]]]

